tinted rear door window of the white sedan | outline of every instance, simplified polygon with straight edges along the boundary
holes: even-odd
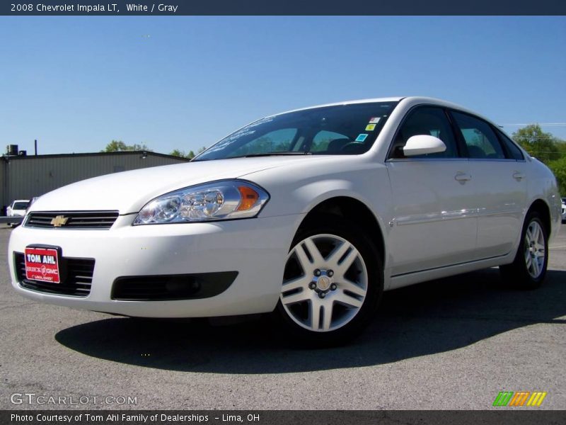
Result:
[[[491,125],[465,113],[452,111],[451,114],[466,142],[470,158],[505,159],[505,152]]]

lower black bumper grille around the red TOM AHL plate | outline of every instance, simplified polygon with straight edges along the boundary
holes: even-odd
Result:
[[[25,278],[25,259],[21,252],[13,254],[16,277],[20,286],[40,293],[86,297],[91,293],[94,259],[59,258],[61,283],[40,282]]]

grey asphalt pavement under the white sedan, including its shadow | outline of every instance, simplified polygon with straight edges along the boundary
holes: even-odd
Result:
[[[359,339],[321,350],[287,346],[263,317],[219,326],[32,302],[9,282],[10,232],[0,409],[492,409],[500,391],[566,408],[566,225],[542,288],[509,289],[488,269],[394,290]]]

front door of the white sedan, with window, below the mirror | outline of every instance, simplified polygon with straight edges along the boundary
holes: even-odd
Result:
[[[405,157],[414,135],[439,137],[439,154]],[[477,232],[476,197],[468,160],[443,108],[418,106],[401,123],[386,160],[393,196],[392,275],[470,261]]]

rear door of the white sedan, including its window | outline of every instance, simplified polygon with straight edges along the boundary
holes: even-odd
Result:
[[[478,205],[474,258],[508,254],[521,232],[526,205],[523,154],[485,120],[456,111],[451,116],[466,143]]]

